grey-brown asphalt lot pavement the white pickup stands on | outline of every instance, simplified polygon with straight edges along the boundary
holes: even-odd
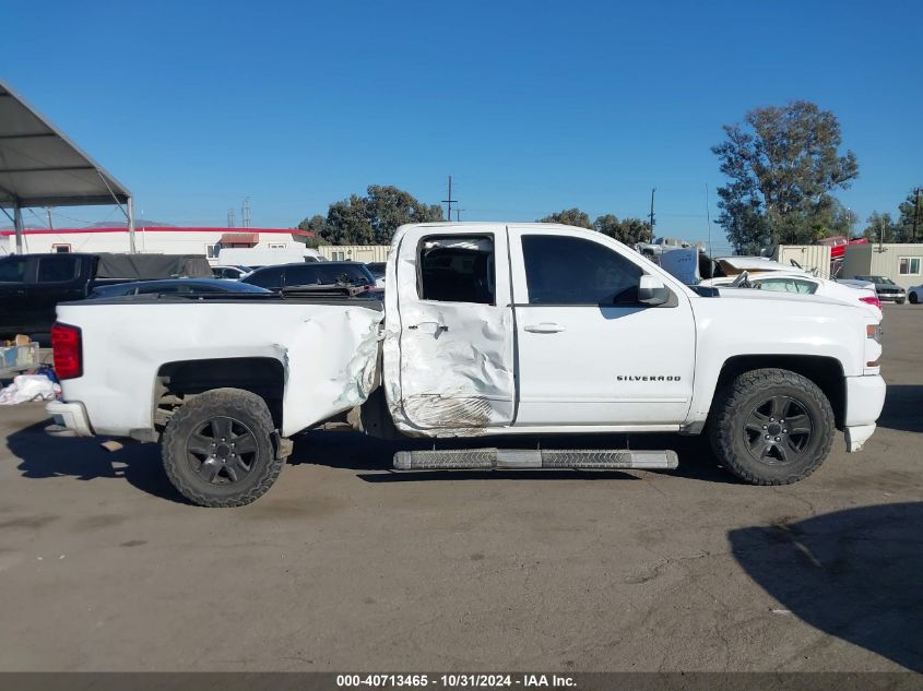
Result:
[[[670,474],[395,474],[327,433],[206,510],[0,409],[0,669],[923,670],[923,306],[884,326],[878,431],[780,488],[679,437],[631,439]]]

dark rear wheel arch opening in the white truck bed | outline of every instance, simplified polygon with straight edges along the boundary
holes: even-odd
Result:
[[[269,407],[273,425],[282,429],[285,365],[273,357],[229,357],[165,362],[157,369],[152,402],[158,431],[190,397],[214,389],[249,391]]]

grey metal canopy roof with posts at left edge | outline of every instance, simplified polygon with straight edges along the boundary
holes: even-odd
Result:
[[[121,209],[133,253],[128,188],[0,81],[0,209],[13,210],[16,252],[23,251],[23,209],[100,204]]]

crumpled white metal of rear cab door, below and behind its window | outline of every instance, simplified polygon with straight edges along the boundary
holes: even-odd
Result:
[[[413,252],[404,252],[401,260],[392,255],[389,262],[391,276],[416,272]],[[424,311],[415,302],[415,282],[392,285],[398,290],[386,293],[384,391],[398,429],[417,437],[473,437],[484,434],[487,427],[509,424],[513,407],[509,310],[446,302],[429,303]],[[433,322],[449,330],[437,331]],[[402,324],[418,327],[402,334]]]

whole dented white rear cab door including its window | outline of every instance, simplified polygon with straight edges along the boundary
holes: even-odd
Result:
[[[400,320],[399,426],[509,425],[514,381],[506,228],[483,226],[471,235],[414,228],[397,252],[389,285],[398,290]]]

